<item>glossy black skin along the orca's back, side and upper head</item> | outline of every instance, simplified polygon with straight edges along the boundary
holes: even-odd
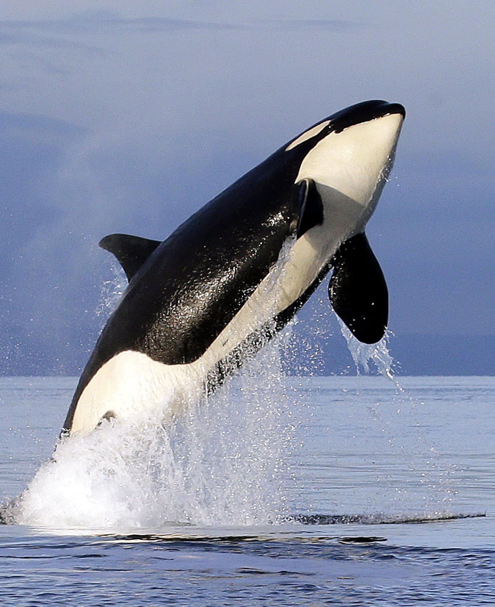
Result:
[[[295,180],[307,153],[329,132],[395,113],[403,114],[402,106],[365,101],[333,114],[323,131],[289,151],[285,144],[162,242],[132,277],[101,332],[64,430],[70,430],[90,379],[116,354],[137,351],[167,365],[199,358],[267,276],[287,237],[304,222],[304,200]],[[303,299],[307,297],[280,315],[280,325]]]

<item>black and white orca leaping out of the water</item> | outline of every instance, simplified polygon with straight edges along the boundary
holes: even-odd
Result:
[[[81,375],[63,433],[200,398],[292,318],[333,268],[329,297],[377,342],[388,294],[364,235],[405,109],[364,101],[320,121],[213,198],[163,242],[100,246],[129,280]],[[164,405],[165,403],[165,405]]]

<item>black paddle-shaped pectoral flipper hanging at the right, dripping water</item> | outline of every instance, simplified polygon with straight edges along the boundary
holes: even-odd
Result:
[[[380,341],[388,322],[387,283],[364,233],[346,240],[335,253],[329,297],[359,341]]]

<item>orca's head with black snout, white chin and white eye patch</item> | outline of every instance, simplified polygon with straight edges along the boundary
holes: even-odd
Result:
[[[375,210],[405,115],[398,103],[363,101],[315,124],[285,147],[299,155],[295,182],[313,180],[326,214],[347,216],[346,237],[363,231]]]

